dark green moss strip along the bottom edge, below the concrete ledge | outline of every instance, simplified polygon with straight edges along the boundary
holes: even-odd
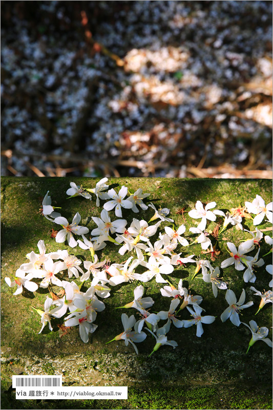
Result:
[[[9,397],[9,400],[7,398]],[[3,406],[3,404],[5,404]],[[13,392],[4,392],[2,408],[38,409],[267,409],[271,394],[236,386],[198,386],[187,388],[136,388],[128,390],[128,400],[35,400],[15,401]]]

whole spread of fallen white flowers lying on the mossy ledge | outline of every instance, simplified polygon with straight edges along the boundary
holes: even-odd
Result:
[[[99,217],[92,217],[97,228],[90,232],[90,238],[86,235],[89,233],[89,228],[79,226],[81,220],[80,214],[77,212],[69,223],[68,220],[54,211],[51,206],[51,198],[46,193],[43,200],[43,214],[50,221],[59,224],[62,229],[56,234],[55,240],[57,243],[67,241],[70,248],[74,249],[79,246],[80,249],[89,250],[91,260],[82,261],[68,250],[58,250],[57,252],[48,252],[43,240],[39,240],[37,247],[39,253],[34,251],[27,254],[28,262],[23,263],[17,269],[13,280],[5,278],[6,283],[10,286],[17,286],[14,295],[23,292],[25,287],[30,292],[37,291],[40,288],[50,288],[52,285],[57,285],[62,288],[61,296],[56,296],[54,300],[50,297],[46,298],[44,311],[33,309],[41,316],[41,331],[46,324],[49,324],[49,329],[52,330],[51,319],[64,317],[65,326],[79,326],[79,334],[83,342],[89,340],[89,333],[93,333],[98,325],[95,324],[97,313],[105,309],[104,301],[110,297],[111,290],[114,286],[121,283],[140,281],[142,283],[155,280],[157,283],[166,284],[160,289],[162,297],[171,297],[170,308],[167,311],[160,310],[151,312],[150,309],[154,305],[154,300],[151,297],[143,297],[143,285],[137,285],[134,290],[134,300],[128,301],[124,306],[116,306],[117,309],[135,309],[140,315],[140,319],[136,319],[134,315],[128,317],[125,313],[121,315],[121,321],[124,331],[118,336],[115,336],[112,341],[124,340],[125,345],[131,343],[136,353],[138,353],[135,343],[143,342],[149,334],[156,340],[153,352],[156,352],[161,345],[171,345],[173,348],[177,346],[177,342],[167,339],[167,333],[171,326],[178,329],[183,328],[182,332],[187,327],[196,325],[196,336],[201,337],[204,329],[203,324],[211,324],[216,320],[214,315],[204,315],[204,308],[201,303],[202,296],[193,295],[183,287],[182,279],[179,280],[177,288],[171,283],[172,273],[181,265],[187,263],[196,263],[196,269],[193,280],[197,277],[205,283],[212,284],[212,291],[215,298],[218,297],[218,290],[226,290],[225,299],[228,303],[228,308],[220,315],[221,321],[227,319],[236,325],[240,326],[239,318],[240,311],[249,308],[254,304],[253,301],[245,303],[246,293],[242,290],[241,296],[237,302],[236,295],[232,289],[227,289],[227,283],[221,278],[221,269],[225,269],[234,265],[237,271],[244,271],[242,278],[244,282],[254,283],[256,281],[256,268],[262,267],[265,262],[262,258],[259,259],[260,247],[265,240],[266,243],[272,244],[272,239],[269,236],[263,238],[261,230],[256,228],[254,232],[248,232],[249,238],[239,244],[237,249],[233,242],[226,242],[226,249],[229,257],[222,261],[219,266],[213,266],[209,260],[196,255],[185,255],[187,248],[194,243],[201,245],[201,253],[211,254],[212,262],[216,260],[220,253],[216,249],[222,232],[230,223],[235,226],[235,229],[243,230],[242,218],[252,219],[250,213],[255,214],[253,223],[255,225],[262,222],[264,216],[272,222],[272,202],[265,206],[262,198],[257,195],[253,202],[245,202],[243,208],[238,207],[224,213],[216,207],[216,202],[209,202],[203,207],[201,201],[197,201],[195,209],[188,212],[188,216],[193,219],[201,219],[197,227],[190,227],[189,234],[184,236],[186,227],[181,224],[176,226],[174,220],[169,218],[170,210],[167,208],[156,209],[153,203],[148,206],[143,202],[143,199],[150,194],[143,193],[139,188],[135,193],[129,192],[128,188],[122,186],[118,193],[107,185],[108,178],[101,179],[95,188],[83,188],[71,182],[67,190],[67,195],[70,198],[81,196],[85,199],[92,200],[92,195],[96,196],[96,206],[100,206],[100,200],[104,200],[103,209]],[[126,198],[128,196],[128,198]],[[129,226],[127,219],[122,218],[122,208],[132,210],[138,213],[139,209],[149,211],[152,208],[155,213],[146,221],[144,219],[133,218]],[[115,209],[115,216],[118,219],[113,219],[109,212]],[[245,212],[245,211],[248,211]],[[224,222],[221,231],[209,231],[207,220],[216,221],[217,218],[224,217]],[[155,224],[153,221],[159,219]],[[170,226],[161,228],[161,223],[166,222]],[[197,224],[198,222],[196,222]],[[220,224],[218,224],[219,228]],[[248,235],[247,234],[247,235]],[[191,235],[191,236],[190,236]],[[79,236],[79,239],[75,237]],[[152,240],[156,236],[156,240]],[[213,245],[213,242],[216,243]],[[118,247],[120,255],[129,253],[127,259],[122,263],[112,263],[109,260],[99,260],[97,251],[107,247],[107,243],[112,242]],[[256,252],[255,248],[258,247]],[[255,251],[254,256],[249,253]],[[183,256],[181,256],[183,252]],[[272,274],[272,265],[266,265],[265,271]],[[201,273],[202,276],[198,276]],[[67,275],[64,279],[64,275]],[[73,279],[70,281],[69,279]],[[78,282],[76,283],[76,280]],[[269,286],[272,285],[270,281]],[[82,285],[88,286],[88,289],[81,291]],[[272,302],[272,291],[261,291],[253,286],[250,290],[255,291],[255,295],[261,297],[261,303],[258,312],[263,308],[264,304]],[[52,292],[51,292],[52,295]],[[99,299],[100,298],[100,299]],[[186,309],[185,309],[186,308]],[[191,318],[188,318],[188,313]],[[257,313],[258,313],[257,312]],[[256,314],[257,314],[256,313]],[[182,316],[183,315],[183,316]],[[160,321],[165,321],[163,324]],[[251,320],[249,329],[253,333],[253,338],[249,343],[249,347],[256,340],[262,339],[268,345],[270,341],[266,338],[268,330],[265,327],[258,327],[256,322]],[[132,329],[134,330],[132,331]],[[40,333],[39,332],[39,333]],[[148,332],[148,333],[146,333]],[[109,342],[108,342],[109,343]],[[271,343],[272,344],[272,343]],[[151,353],[151,354],[152,354]]]

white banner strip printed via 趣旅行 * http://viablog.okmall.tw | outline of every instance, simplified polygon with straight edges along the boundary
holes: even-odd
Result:
[[[79,386],[79,387],[16,387],[16,399],[125,399],[128,387]]]

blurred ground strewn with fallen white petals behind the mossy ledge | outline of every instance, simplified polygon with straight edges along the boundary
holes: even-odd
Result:
[[[2,1],[1,173],[271,178],[270,1]]]

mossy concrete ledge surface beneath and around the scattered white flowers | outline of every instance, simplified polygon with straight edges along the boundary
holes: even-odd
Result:
[[[99,178],[73,178],[77,185],[83,185],[85,188],[94,188],[98,180]],[[98,313],[95,321],[98,328],[90,335],[88,343],[81,341],[76,327],[69,328],[67,333],[64,333],[60,327],[63,323],[62,319],[52,320],[52,332],[49,331],[47,325],[44,331],[38,334],[41,327],[40,316],[31,306],[43,310],[46,295],[49,295],[48,289],[38,288],[34,294],[24,290],[23,295],[13,296],[15,288],[9,288],[4,278],[6,276],[12,278],[20,264],[27,262],[27,253],[32,250],[38,253],[37,242],[40,239],[45,241],[47,252],[68,249],[70,253],[78,255],[83,260],[91,260],[89,251],[83,251],[78,247],[76,249],[69,248],[67,242],[56,243],[55,239],[51,237],[51,232],[52,229],[59,230],[60,226],[47,220],[39,213],[41,201],[49,190],[52,205],[61,207],[59,211],[62,216],[72,221],[73,216],[78,211],[81,215],[80,224],[87,226],[90,231],[96,228],[92,216],[100,216],[103,201],[97,208],[94,195],[92,201],[80,196],[66,199],[66,191],[70,187],[70,181],[69,178],[2,178],[1,313],[2,385],[4,391],[7,392],[11,386],[12,375],[61,374],[64,385],[127,385],[129,392],[130,388],[138,389],[139,393],[136,395],[141,395],[141,392],[148,388],[156,391],[158,385],[164,385],[166,389],[169,389],[168,391],[172,392],[175,389],[181,388],[183,390],[186,387],[197,391],[196,389],[199,388],[219,389],[224,386],[226,391],[230,391],[230,394],[237,392],[242,395],[244,389],[248,388],[248,393],[251,396],[248,399],[256,400],[251,402],[253,405],[248,408],[269,408],[263,405],[266,400],[268,403],[268,397],[270,399],[270,393],[268,394],[268,387],[271,385],[270,348],[263,342],[257,342],[246,355],[248,342],[251,338],[250,331],[244,325],[234,326],[229,320],[225,323],[221,322],[220,315],[227,308],[225,291],[219,290],[216,299],[213,296],[211,284],[198,278],[192,280],[196,268],[195,264],[175,268],[169,278],[174,285],[177,285],[179,279],[182,278],[183,286],[190,289],[192,294],[203,297],[202,307],[206,310],[205,314],[217,317],[213,324],[203,325],[204,334],[201,338],[196,337],[195,326],[189,329],[171,327],[168,339],[177,341],[178,347],[175,350],[171,346],[162,346],[148,358],[155,344],[150,335],[143,343],[137,345],[139,355],[135,354],[132,345],[129,344],[126,347],[123,341],[105,344],[123,331],[120,320],[121,313],[135,314],[137,317],[134,309],[116,310],[115,308],[133,300],[133,290],[139,283],[115,286],[111,291],[111,297],[103,299],[106,309]],[[271,181],[259,179],[110,178],[108,183],[116,191],[125,185],[132,193],[138,188],[142,188],[144,193],[151,193],[145,202],[153,202],[156,208],[169,208],[171,210],[169,216],[175,220],[176,226],[185,224],[184,236],[189,242],[196,238],[196,235],[193,235],[189,228],[196,227],[200,220],[190,218],[187,212],[194,208],[197,200],[201,200],[203,203],[216,201],[217,209],[227,211],[239,206],[240,202],[244,204],[245,201],[253,201],[256,194],[261,195],[265,203],[270,202],[272,196]],[[185,212],[182,212],[182,209]],[[144,218],[148,221],[153,214],[154,211],[151,208],[138,214],[131,210],[122,210],[122,216],[128,220],[128,226],[130,226],[133,217]],[[117,219],[114,211],[110,212],[110,216],[112,220]],[[222,218],[218,218],[216,222],[210,222],[207,229],[213,231],[217,223],[222,223]],[[164,226],[172,226],[172,224],[162,222],[158,232],[164,232]],[[243,219],[243,226],[250,231],[255,230],[251,220]],[[264,219],[259,229],[268,227],[270,224]],[[158,232],[151,238],[152,243],[157,240]],[[269,235],[271,235],[270,232]],[[241,243],[240,240],[246,238],[250,238],[247,232],[238,231],[235,227],[229,226],[217,243],[217,249],[221,252],[218,258],[212,262],[213,267],[220,267],[221,261],[229,257],[226,250],[227,241],[234,242],[238,247]],[[213,243],[215,242],[213,241]],[[111,262],[122,262],[130,256],[128,253],[124,256],[119,255],[118,249],[118,246],[108,242],[107,247],[98,252],[99,260],[107,258]],[[266,254],[269,249],[269,245],[262,240],[261,256]],[[182,252],[182,257],[192,254],[199,256],[201,255],[201,247],[199,244],[194,244],[189,248],[177,248],[176,252]],[[255,250],[250,255],[254,256],[256,252]],[[209,256],[205,254],[202,255],[202,258],[209,259]],[[272,263],[270,255],[264,257],[264,260],[265,264]],[[141,268],[139,271],[141,272]],[[259,326],[270,328],[271,305],[266,304],[255,316],[260,298],[254,296],[254,293],[250,291],[251,284],[243,281],[243,272],[236,271],[232,266],[221,270],[221,274],[228,288],[235,292],[237,300],[244,288],[246,302],[254,301],[253,306],[243,311],[241,321],[248,323],[249,320],[254,319]],[[260,291],[267,290],[270,275],[264,267],[258,268],[256,276],[255,288]],[[67,279],[66,274],[59,277]],[[78,279],[75,281],[80,283]],[[153,279],[143,285],[144,296],[151,296],[155,301],[151,312],[169,310],[171,299],[161,296],[162,284],[156,283]],[[88,284],[83,290],[87,288]],[[58,293],[59,288],[53,286],[53,291]],[[187,310],[183,310],[180,314],[180,319],[191,318]],[[272,338],[271,330],[269,337]],[[217,392],[218,397],[219,390]],[[266,400],[263,396],[265,392]],[[257,397],[264,397],[263,403],[258,403]],[[235,404],[234,407],[226,404],[226,407],[223,407],[219,400],[218,404],[212,401],[214,404],[211,407],[205,402],[202,402],[202,406],[200,404],[201,407],[198,407],[198,404],[194,404],[194,402],[186,404],[187,401],[182,399],[181,406],[183,407],[177,407],[175,401],[171,405],[172,407],[166,407],[165,402],[163,407],[151,407],[149,402],[145,406],[143,400],[140,400],[138,408],[247,408],[247,404],[244,404],[246,407],[242,407],[243,404],[238,404],[237,407]],[[52,408],[47,407],[46,402],[44,407],[37,408]],[[229,404],[231,402],[228,401]],[[110,408],[107,407],[107,404],[104,404],[106,407],[96,407],[96,405],[101,404],[93,403],[90,404],[93,407],[89,408]],[[120,407],[120,405],[119,401],[111,404],[112,408],[137,408],[129,407],[128,402],[127,406]],[[240,405],[242,406],[240,407]],[[88,408],[88,405],[80,407],[77,404],[76,407]],[[31,407],[27,407],[26,404],[25,408]],[[65,407],[63,404],[63,407],[58,408],[71,407]]]

